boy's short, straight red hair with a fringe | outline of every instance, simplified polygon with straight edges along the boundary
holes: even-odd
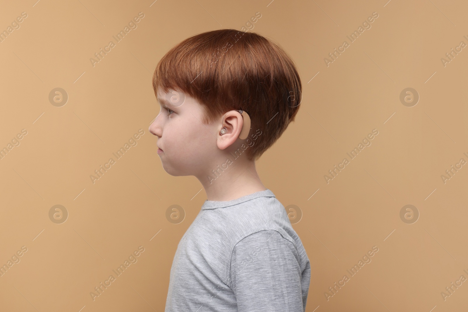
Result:
[[[257,160],[283,134],[302,99],[291,57],[271,40],[236,29],[204,32],[172,47],[154,70],[156,96],[160,88],[196,99],[205,108],[205,124],[229,110],[246,111],[249,134],[262,131],[246,150],[249,160]]]

